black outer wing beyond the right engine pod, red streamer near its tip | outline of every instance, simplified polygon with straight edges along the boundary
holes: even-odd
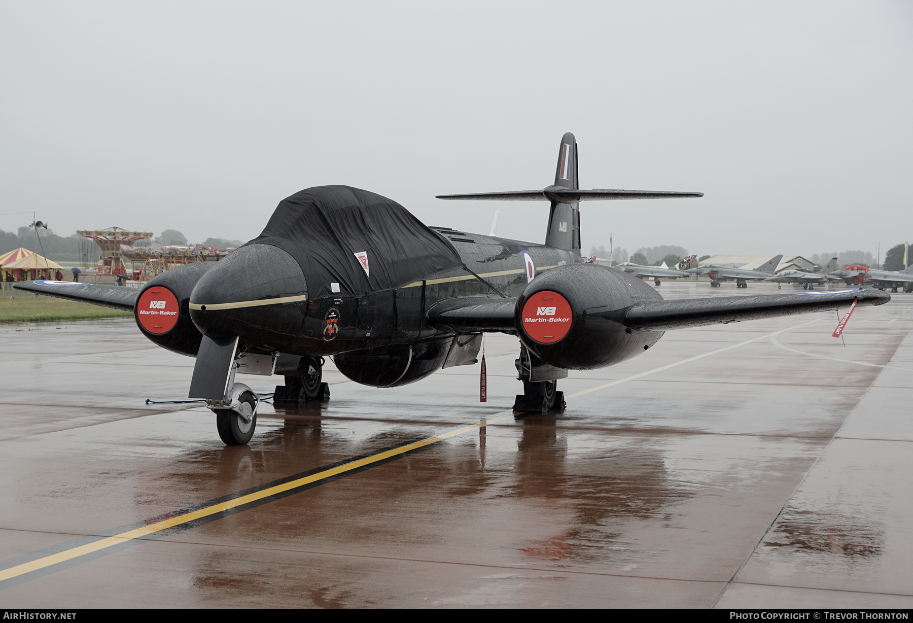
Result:
[[[860,305],[881,305],[891,298],[884,292],[870,289],[641,301],[628,309],[621,322],[632,329],[666,331],[836,310],[849,307],[854,299],[858,299]]]

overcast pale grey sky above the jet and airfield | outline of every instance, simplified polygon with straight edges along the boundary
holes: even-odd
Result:
[[[574,132],[582,187],[706,194],[583,204],[584,248],[884,254],[913,238],[911,6],[5,1],[0,213],[247,240],[345,184],[541,241],[547,204],[434,195],[549,185]]]

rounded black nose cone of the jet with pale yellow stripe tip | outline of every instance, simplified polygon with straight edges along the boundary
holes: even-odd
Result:
[[[272,245],[247,245],[197,281],[190,317],[209,337],[237,335],[254,348],[278,350],[299,333],[307,300],[298,261]]]

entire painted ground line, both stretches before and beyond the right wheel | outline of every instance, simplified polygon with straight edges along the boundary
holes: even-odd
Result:
[[[626,383],[628,381],[634,381],[635,379],[642,378],[646,375],[652,375],[657,372],[662,372],[663,370],[668,370],[670,368],[677,367],[678,365],[689,364],[693,361],[703,359],[704,357],[708,357],[713,354],[724,353],[746,344],[759,342],[761,340],[771,338],[772,336],[779,335],[780,333],[792,331],[792,329],[798,329],[808,324],[813,324],[814,322],[821,322],[822,320],[824,320],[824,318],[818,318],[810,322],[803,322],[802,324],[797,324],[795,326],[781,329],[780,331],[775,331],[773,333],[767,333],[765,335],[746,340],[745,342],[731,344],[725,348],[719,348],[709,353],[698,354],[694,357],[683,359],[682,361],[676,362],[674,364],[661,365],[657,368],[647,370],[636,375],[626,376],[616,381],[611,381],[609,383],[603,383],[603,385],[596,385],[595,387],[584,389],[580,392],[571,394],[568,397],[592,394],[593,392],[600,391],[607,387],[621,385],[622,383]],[[247,508],[253,508],[255,506],[259,506],[260,504],[271,502],[271,499],[278,500],[299,491],[305,491],[307,489],[320,486],[321,484],[331,482],[332,480],[338,480],[354,473],[358,473],[359,471],[371,469],[372,467],[382,465],[385,462],[401,458],[408,453],[429,448],[446,439],[454,438],[458,435],[463,435],[468,432],[478,430],[479,428],[498,424],[498,422],[503,422],[504,420],[512,417],[513,411],[509,411],[500,416],[490,417],[487,420],[483,420],[476,424],[468,424],[466,426],[453,428],[444,433],[441,433],[440,435],[418,439],[392,449],[383,449],[376,454],[362,456],[350,460],[342,460],[339,463],[333,464],[331,466],[318,468],[317,470],[310,470],[310,472],[303,472],[302,474],[296,474],[295,476],[291,476],[289,478],[281,479],[278,481],[274,480],[272,482],[261,485],[260,487],[255,487],[253,490],[247,490],[247,492],[241,491],[239,494],[236,494],[236,497],[227,496],[230,499],[223,498],[215,503],[205,502],[201,508],[194,509],[193,511],[180,512],[179,514],[176,514],[175,516],[164,519],[162,521],[149,523],[148,525],[142,525],[131,530],[125,530],[121,533],[102,537],[98,541],[70,547],[63,550],[62,552],[42,556],[26,563],[9,566],[5,569],[0,569],[0,587],[3,586],[2,583],[6,580],[11,580],[22,575],[41,571],[42,569],[47,569],[48,567],[52,567],[54,565],[68,563],[69,561],[78,559],[81,556],[103,552],[104,550],[110,549],[111,547],[117,545],[130,544],[131,541],[143,539],[144,537],[157,538],[155,536],[156,533],[163,533],[166,530],[180,528],[181,526],[193,527],[194,525],[198,525],[200,523],[207,523],[216,519],[220,519],[229,513],[244,511],[247,510]],[[159,534],[159,536],[162,536],[162,534]]]

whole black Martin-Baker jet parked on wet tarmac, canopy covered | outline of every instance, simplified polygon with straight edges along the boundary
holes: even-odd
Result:
[[[257,393],[236,374],[283,375],[274,400],[329,397],[321,366],[393,387],[475,364],[482,333],[519,337],[523,393],[514,410],[563,408],[568,370],[617,364],[668,329],[858,304],[877,290],[664,301],[619,269],[583,263],[579,203],[700,193],[582,190],[577,144],[561,139],[555,183],[541,190],[443,199],[545,201],[545,244],[426,227],[381,195],[331,185],[282,200],[259,237],[220,261],[168,270],[142,290],[34,281],[16,288],[131,311],[153,343],[196,358],[191,398],[204,399],[226,444],[245,444]]]

